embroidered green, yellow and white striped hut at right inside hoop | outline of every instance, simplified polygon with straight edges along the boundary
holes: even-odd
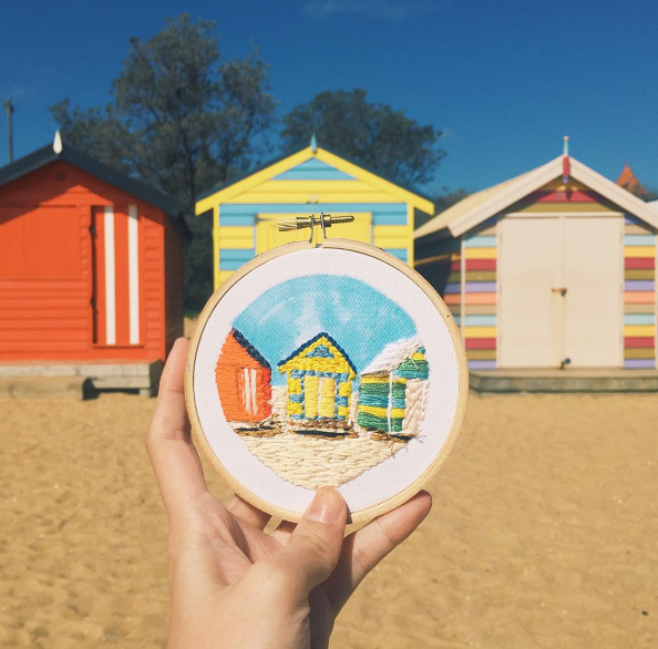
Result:
[[[418,434],[428,379],[429,365],[420,338],[387,344],[361,372],[357,423],[390,435]]]

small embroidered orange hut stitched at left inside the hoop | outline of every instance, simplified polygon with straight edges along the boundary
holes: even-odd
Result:
[[[271,368],[237,329],[222,346],[215,377],[228,421],[260,422],[271,414]]]

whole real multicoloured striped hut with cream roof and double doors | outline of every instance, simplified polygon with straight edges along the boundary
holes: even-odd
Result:
[[[657,213],[568,156],[419,228],[473,370],[656,368]]]

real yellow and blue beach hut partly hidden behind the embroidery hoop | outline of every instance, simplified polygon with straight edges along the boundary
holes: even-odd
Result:
[[[308,239],[279,233],[281,217],[352,214],[331,227],[332,237],[372,244],[413,266],[413,229],[434,205],[415,190],[364,169],[317,145],[266,165],[249,176],[197,197],[196,214],[213,214],[215,288],[256,255]]]

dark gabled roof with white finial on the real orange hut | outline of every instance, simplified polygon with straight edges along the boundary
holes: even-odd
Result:
[[[55,145],[49,144],[13,163],[0,167],[0,187],[59,159],[95,176],[100,181],[103,181],[135,198],[144,200],[144,203],[160,207],[172,217],[174,225],[182,230],[182,234],[185,237],[189,236],[187,226],[182,219],[177,218],[178,210],[171,196],[167,196],[163,192],[160,192],[150,185],[145,185],[140,181],[135,181],[135,178],[131,178],[130,176],[114,171],[112,167],[81,153],[68,144],[62,145],[59,137],[55,138]]]

